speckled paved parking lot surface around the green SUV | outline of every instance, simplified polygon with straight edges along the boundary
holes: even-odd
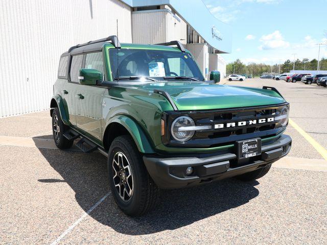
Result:
[[[157,209],[138,218],[116,207],[105,157],[55,148],[49,111],[0,119],[0,243],[327,244],[327,88],[226,84],[281,91],[291,152],[258,181],[163,190]]]

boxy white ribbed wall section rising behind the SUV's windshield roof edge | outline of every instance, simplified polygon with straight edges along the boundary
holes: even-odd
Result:
[[[185,44],[186,23],[176,17],[168,9],[132,12],[133,43],[154,44],[178,40]]]

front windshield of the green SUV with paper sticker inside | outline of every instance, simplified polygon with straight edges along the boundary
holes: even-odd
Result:
[[[109,57],[113,79],[147,77],[164,80],[176,77],[204,81],[189,53],[110,48]]]

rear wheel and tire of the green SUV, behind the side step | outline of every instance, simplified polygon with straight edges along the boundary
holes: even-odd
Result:
[[[63,124],[59,109],[56,107],[52,113],[52,132],[55,144],[59,149],[71,148],[74,141],[68,140],[63,136],[63,133],[68,130],[69,127]]]

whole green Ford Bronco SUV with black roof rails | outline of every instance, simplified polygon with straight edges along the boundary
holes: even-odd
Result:
[[[173,47],[172,45],[176,45]],[[142,215],[160,188],[229,177],[258,179],[287,155],[289,103],[272,87],[205,81],[178,42],[120,44],[116,36],[69,48],[51,100],[59,149],[108,157],[111,193]]]

